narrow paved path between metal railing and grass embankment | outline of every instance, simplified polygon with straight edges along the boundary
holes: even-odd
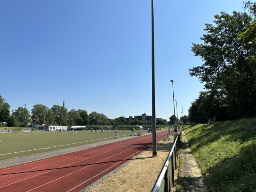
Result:
[[[183,131],[181,131],[181,137],[182,168],[180,169],[179,177],[182,180],[182,186],[186,192],[207,192],[207,187],[204,185],[204,177]]]

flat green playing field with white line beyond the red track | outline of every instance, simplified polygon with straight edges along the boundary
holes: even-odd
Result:
[[[144,133],[147,131],[144,130]],[[129,137],[130,130],[119,130],[118,137]],[[34,131],[0,133],[0,160],[70,148],[115,139],[114,130],[95,131]]]

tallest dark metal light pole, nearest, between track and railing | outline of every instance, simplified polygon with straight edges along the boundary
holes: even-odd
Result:
[[[156,102],[154,80],[154,0],[151,0],[151,32],[152,32],[152,156],[157,156],[157,133],[156,133]]]

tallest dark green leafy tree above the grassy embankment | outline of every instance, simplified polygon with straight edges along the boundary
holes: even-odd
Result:
[[[256,52],[252,44],[237,40],[252,18],[240,12],[233,12],[233,15],[221,12],[214,17],[215,26],[205,24],[207,34],[200,38],[204,44],[192,47],[195,56],[201,56],[204,64],[189,69],[189,73],[205,83],[212,97],[222,97],[221,106],[227,108],[227,119],[255,116],[256,73],[251,57]]]

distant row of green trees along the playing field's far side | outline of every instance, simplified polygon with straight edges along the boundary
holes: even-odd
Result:
[[[38,125],[121,125],[129,124],[124,116],[115,119],[109,119],[103,113],[95,111],[90,114],[85,110],[67,110],[64,106],[53,105],[48,108],[45,105],[37,104],[29,112],[28,109],[19,107],[10,115],[10,105],[0,95],[0,122],[7,122],[8,127],[27,127],[29,124]],[[142,124],[151,122],[140,122],[134,119],[131,124]],[[164,120],[160,118],[158,124],[163,124]]]

